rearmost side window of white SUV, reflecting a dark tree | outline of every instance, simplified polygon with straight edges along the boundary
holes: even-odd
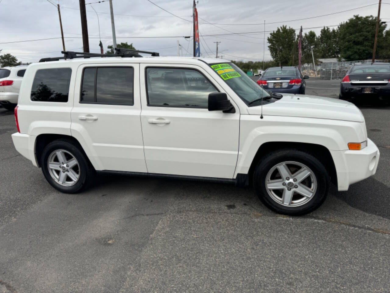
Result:
[[[67,102],[72,70],[70,68],[39,69],[35,73],[31,100]]]

